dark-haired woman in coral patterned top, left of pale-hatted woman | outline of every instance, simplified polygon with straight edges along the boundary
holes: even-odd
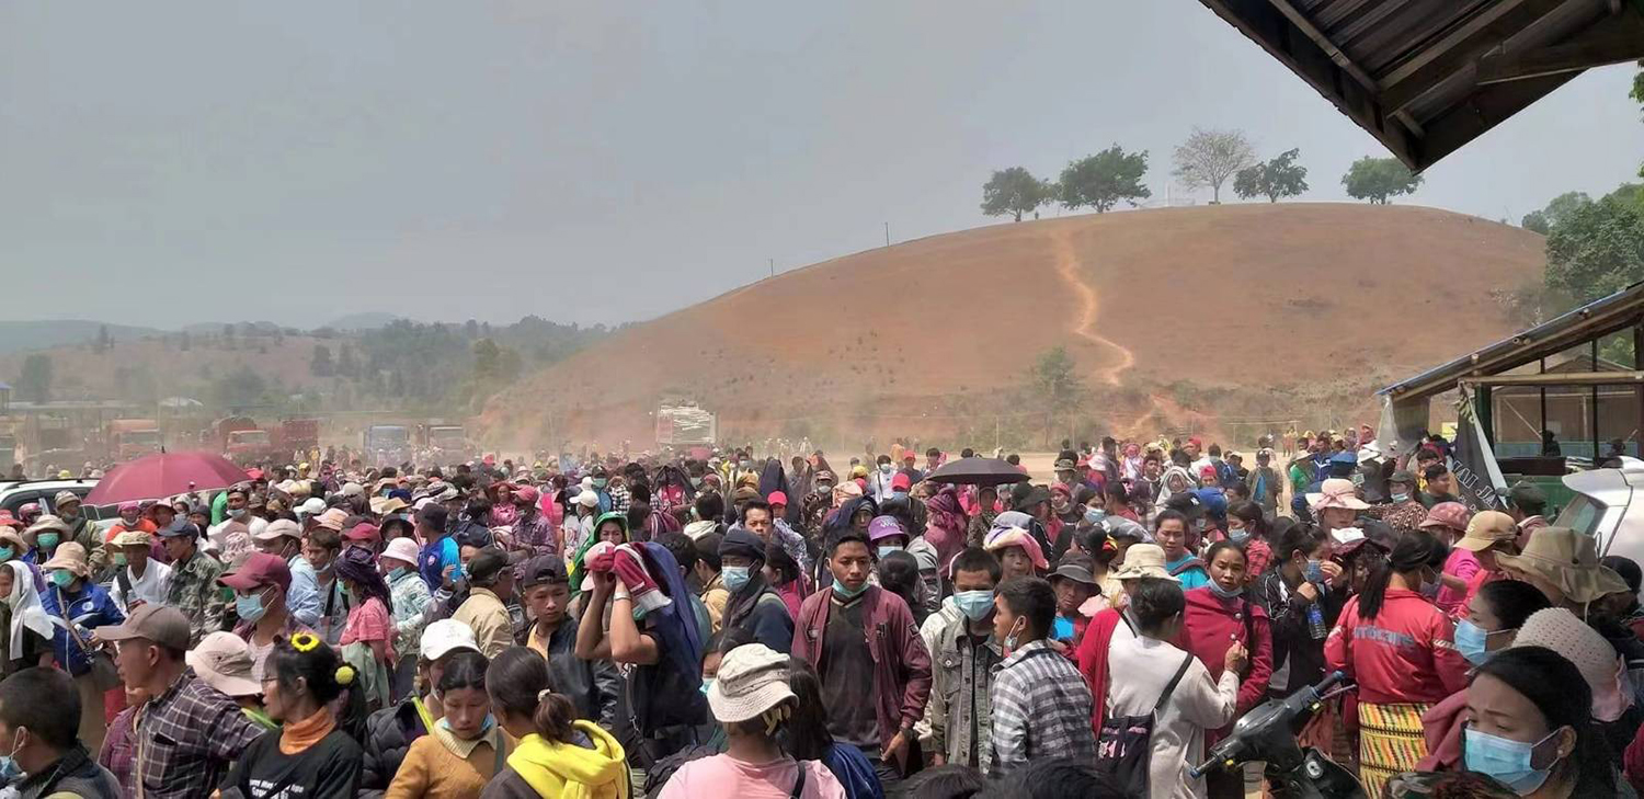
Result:
[[[395,671],[395,618],[388,584],[370,549],[350,546],[337,557],[337,580],[349,592],[349,623],[342,628],[342,659],[360,676],[365,707],[388,707]]]

